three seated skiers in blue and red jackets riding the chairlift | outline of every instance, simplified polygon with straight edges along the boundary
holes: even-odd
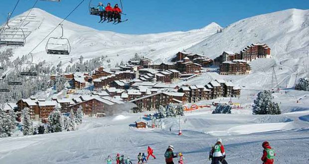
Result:
[[[105,7],[102,2],[99,2],[99,5],[96,8],[100,13],[100,22],[106,21],[108,22],[115,21],[115,22],[122,22],[121,21],[121,14],[122,10],[119,8],[118,4],[115,4],[114,8],[111,6],[111,3],[107,3]]]

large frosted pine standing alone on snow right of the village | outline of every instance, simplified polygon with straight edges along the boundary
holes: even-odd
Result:
[[[272,102],[273,95],[269,90],[263,90],[258,93],[254,100],[252,109],[253,114],[281,114],[278,103]]]

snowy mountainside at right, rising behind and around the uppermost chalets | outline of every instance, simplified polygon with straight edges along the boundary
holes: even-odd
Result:
[[[309,10],[288,9],[237,21],[204,41],[189,48],[189,51],[203,53],[215,58],[223,51],[240,52],[252,43],[269,45],[272,59],[251,62],[252,73],[246,76],[204,75],[192,80],[206,83],[206,79],[232,80],[244,89],[270,89],[272,87],[272,66],[280,87],[293,87],[295,82],[308,75],[309,57]],[[298,72],[298,75],[297,75]],[[190,83],[190,82],[188,82]],[[274,86],[276,86],[274,82]]]

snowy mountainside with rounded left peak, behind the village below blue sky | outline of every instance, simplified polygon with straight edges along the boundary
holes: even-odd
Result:
[[[11,19],[10,24],[19,26],[20,24],[12,22],[18,22],[20,16],[25,16],[27,13],[28,11],[15,16]],[[23,28],[29,28],[32,33],[27,37],[24,47],[14,50],[14,57],[30,52],[62,20],[38,8],[34,8],[31,15],[36,16],[35,20],[40,20],[40,22],[24,23]],[[38,26],[39,28],[37,28]],[[61,60],[65,66],[71,58],[76,61],[81,55],[86,60],[107,55],[112,60],[113,66],[116,61],[128,61],[135,53],[149,57],[154,61],[165,61],[177,51],[187,49],[201,42],[221,28],[218,24],[211,23],[202,29],[186,32],[128,35],[110,31],[98,31],[69,21],[64,21],[63,27],[64,37],[70,40],[71,54],[69,56],[47,55],[45,52],[46,39],[33,51],[36,62],[46,60],[57,64]],[[61,28],[59,27],[50,37],[59,37],[60,35]]]

